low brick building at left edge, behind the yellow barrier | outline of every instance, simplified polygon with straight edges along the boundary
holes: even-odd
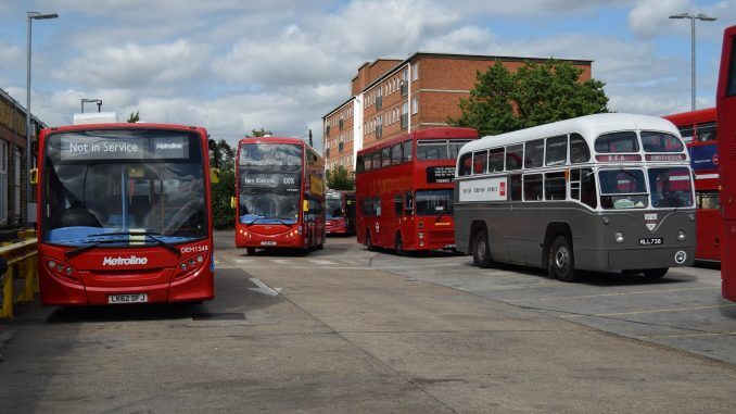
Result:
[[[33,115],[30,122],[35,141],[46,124]],[[0,240],[15,238],[23,227],[27,177],[26,109],[0,89]]]

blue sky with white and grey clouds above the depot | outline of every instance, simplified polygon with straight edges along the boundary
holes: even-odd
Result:
[[[610,108],[713,105],[736,0],[0,0],[0,87],[25,104],[26,11],[34,23],[31,108],[68,124],[81,98],[126,117],[205,126],[234,142],[254,128],[320,148],[321,117],[350,98],[357,67],[416,51],[594,60]],[[94,110],[93,105],[86,106]]]

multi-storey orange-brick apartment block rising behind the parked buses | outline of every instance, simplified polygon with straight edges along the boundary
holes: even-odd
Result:
[[[322,117],[327,170],[339,165],[353,171],[357,151],[409,130],[447,126],[460,115],[460,98],[470,96],[475,73],[496,61],[509,70],[538,58],[418,52],[402,61],[378,59],[358,67],[352,97]],[[591,79],[591,61],[568,60]]]

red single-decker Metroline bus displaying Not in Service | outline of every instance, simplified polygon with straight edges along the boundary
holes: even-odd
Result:
[[[45,305],[214,298],[207,131],[93,124],[39,137]]]

